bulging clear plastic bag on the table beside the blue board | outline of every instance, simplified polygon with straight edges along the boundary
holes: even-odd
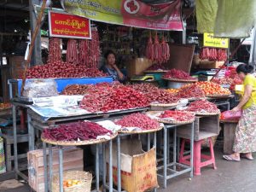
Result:
[[[57,84],[54,79],[29,79],[26,81],[22,96],[38,98],[58,95]]]

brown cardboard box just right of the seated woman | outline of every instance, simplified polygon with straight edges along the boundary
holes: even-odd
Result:
[[[152,61],[146,58],[137,58],[128,61],[126,64],[127,76],[131,78],[133,75],[141,75],[148,67],[153,65]]]

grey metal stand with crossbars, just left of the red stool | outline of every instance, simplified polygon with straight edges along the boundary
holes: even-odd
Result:
[[[183,124],[184,125],[184,124]],[[194,141],[194,122],[190,124],[191,125],[191,134],[190,134],[190,141]],[[190,150],[190,166],[185,166],[183,164],[177,163],[177,128],[179,125],[170,125],[165,124],[164,127],[164,157],[163,157],[163,166],[158,166],[158,171],[163,170],[163,173],[158,173],[158,176],[164,179],[164,188],[167,186],[167,180],[173,177],[177,177],[179,175],[182,175],[186,172],[190,172],[190,177],[193,177],[193,151]],[[173,131],[173,162],[170,163],[169,160],[169,131]],[[194,143],[190,142],[190,148],[194,148]],[[182,167],[183,171],[177,171],[177,166]],[[170,167],[170,168],[169,168]],[[173,168],[172,168],[173,167]],[[171,174],[167,174],[168,172],[172,172]]]

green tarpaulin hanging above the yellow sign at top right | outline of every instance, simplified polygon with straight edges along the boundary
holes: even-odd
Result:
[[[215,37],[246,38],[256,21],[256,1],[196,0],[198,32],[213,32]]]

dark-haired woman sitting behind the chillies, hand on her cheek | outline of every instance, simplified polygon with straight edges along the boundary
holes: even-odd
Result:
[[[106,59],[105,65],[101,67],[101,71],[108,73],[109,76],[113,78],[114,81],[124,82],[125,75],[119,70],[116,65],[116,57],[112,50],[108,50],[104,55]]]

